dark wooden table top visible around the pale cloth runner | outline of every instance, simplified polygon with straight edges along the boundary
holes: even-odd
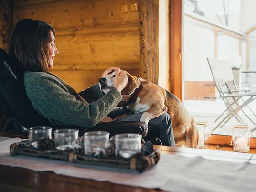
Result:
[[[6,136],[0,134],[0,136]],[[207,147],[207,146],[206,146]],[[209,145],[207,148],[213,148]],[[155,149],[160,149],[160,152],[175,154],[179,152],[192,153],[192,154],[212,154],[213,150],[200,150],[200,149],[179,149],[171,148],[168,146],[154,146]],[[232,150],[231,147],[224,148],[225,150]],[[254,151],[255,152],[255,151]],[[219,151],[220,159],[223,158],[222,153]],[[246,153],[239,153],[231,158],[247,158]],[[214,154],[213,154],[214,155]],[[224,155],[226,157],[226,153]],[[114,184],[107,181],[95,181],[90,179],[75,178],[55,174],[51,171],[32,171],[23,168],[16,168],[10,166],[0,165],[0,192],[161,192],[159,189],[146,189],[141,187],[133,187],[121,184]]]

